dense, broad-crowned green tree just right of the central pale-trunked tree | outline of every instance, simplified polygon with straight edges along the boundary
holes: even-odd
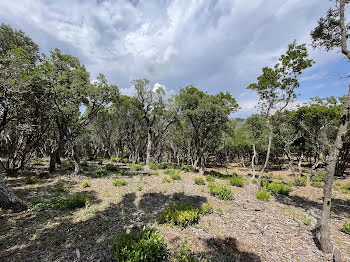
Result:
[[[208,147],[213,139],[219,139],[228,116],[237,110],[238,104],[229,93],[209,95],[192,85],[180,89],[175,101],[185,124],[191,127],[194,150],[203,174]]]

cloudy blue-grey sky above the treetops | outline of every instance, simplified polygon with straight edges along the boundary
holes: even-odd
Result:
[[[306,43],[315,65],[300,79],[297,103],[347,93],[349,62],[337,50],[312,49],[310,32],[329,0],[1,0],[0,23],[26,32],[48,54],[59,48],[132,95],[148,78],[168,94],[193,84],[230,92],[256,111],[246,87],[275,64],[289,43]]]

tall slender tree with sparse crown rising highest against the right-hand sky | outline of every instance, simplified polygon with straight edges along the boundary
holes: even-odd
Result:
[[[264,67],[258,82],[248,86],[248,89],[255,90],[260,96],[260,111],[266,117],[269,129],[267,154],[258,177],[258,190],[261,189],[261,177],[269,162],[274,127],[279,123],[280,113],[297,97],[298,77],[312,63],[313,61],[308,59],[305,45],[297,45],[294,42],[288,46],[286,54],[281,55],[279,63],[273,68]]]

